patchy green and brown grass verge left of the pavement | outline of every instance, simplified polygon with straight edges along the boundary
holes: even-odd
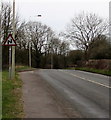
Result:
[[[15,79],[9,80],[8,71],[2,72],[2,118],[22,118],[21,87],[17,73]]]

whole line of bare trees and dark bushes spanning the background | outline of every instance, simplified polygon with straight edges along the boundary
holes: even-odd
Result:
[[[0,11],[1,39],[12,33],[12,8],[2,3]],[[16,16],[16,65],[29,65],[31,48],[32,67],[67,68],[78,61],[111,59],[111,45],[107,34],[108,24],[95,14],[79,14],[59,35],[40,22],[20,21]],[[76,50],[71,50],[72,45]],[[2,47],[3,67],[8,66],[8,47]]]

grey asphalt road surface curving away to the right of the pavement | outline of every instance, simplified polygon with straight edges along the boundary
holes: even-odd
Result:
[[[76,70],[39,70],[83,118],[109,118],[109,78]]]

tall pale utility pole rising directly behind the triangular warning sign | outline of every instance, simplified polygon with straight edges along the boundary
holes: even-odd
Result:
[[[15,0],[13,0],[13,38],[15,39]],[[12,74],[11,78],[15,78],[15,46],[12,46]]]

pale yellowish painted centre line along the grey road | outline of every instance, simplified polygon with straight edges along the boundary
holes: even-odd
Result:
[[[77,77],[77,78],[80,78],[80,79],[82,79],[82,80],[84,80],[84,81],[88,81],[88,82],[91,82],[91,83],[94,83],[94,84],[97,84],[97,85],[100,85],[100,86],[103,86],[103,87],[106,87],[106,88],[111,88],[110,86],[104,85],[104,84],[99,83],[99,82],[95,82],[95,81],[90,80],[90,79],[86,79],[86,78],[77,76],[77,75],[75,75],[75,74],[73,74],[73,73],[69,73],[69,72],[66,72],[66,71],[63,71],[63,70],[59,70],[59,71],[64,72],[64,73],[67,73],[67,74],[70,74],[70,75],[72,75],[72,76],[74,76],[74,77]]]

